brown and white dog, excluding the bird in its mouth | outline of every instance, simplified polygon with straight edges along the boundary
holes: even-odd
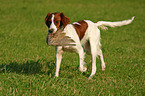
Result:
[[[48,26],[48,32],[55,33],[62,26],[64,27],[64,33],[73,39],[76,43],[75,46],[56,46],[56,71],[55,76],[59,76],[59,69],[62,60],[63,51],[77,52],[79,54],[80,65],[79,70],[85,72],[87,70],[84,67],[85,53],[92,55],[92,73],[89,76],[91,78],[96,73],[96,57],[99,55],[101,59],[102,70],[105,70],[105,63],[101,50],[100,43],[100,30],[107,29],[106,26],[116,27],[130,24],[134,17],[129,20],[117,21],[117,22],[105,22],[99,21],[93,23],[90,20],[81,20],[70,24],[70,20],[64,13],[48,13],[45,18],[45,23]]]

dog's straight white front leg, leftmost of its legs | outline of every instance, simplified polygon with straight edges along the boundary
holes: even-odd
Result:
[[[59,69],[60,69],[60,64],[62,60],[62,54],[63,54],[62,46],[57,46],[56,47],[56,71],[55,71],[56,77],[59,76]]]

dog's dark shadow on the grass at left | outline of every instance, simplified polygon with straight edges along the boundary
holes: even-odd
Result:
[[[0,73],[17,73],[17,74],[52,74],[55,69],[55,60],[47,63],[38,61],[26,61],[25,63],[10,62],[9,64],[0,65]]]

